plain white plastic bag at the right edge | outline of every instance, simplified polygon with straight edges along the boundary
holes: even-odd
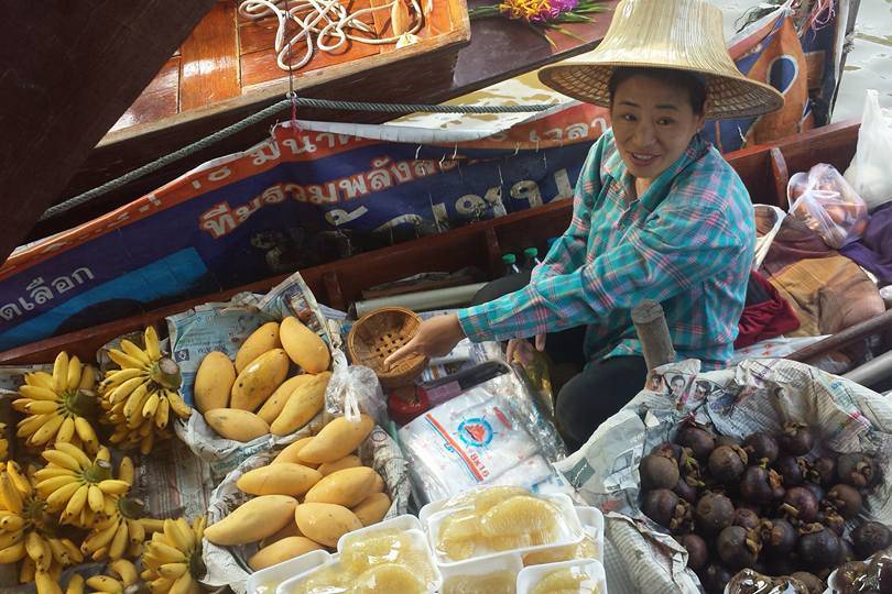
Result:
[[[869,89],[864,99],[861,130],[858,132],[858,150],[846,169],[846,180],[870,210],[892,200],[892,175],[889,172],[891,155],[892,111],[880,109],[879,95]]]

